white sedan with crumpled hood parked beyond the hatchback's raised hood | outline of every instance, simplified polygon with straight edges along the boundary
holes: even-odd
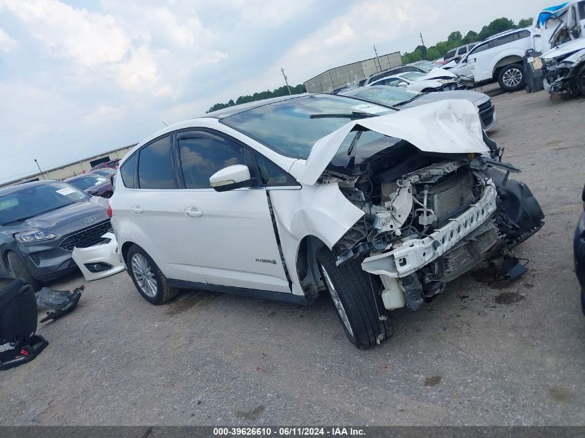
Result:
[[[418,71],[406,71],[396,75],[383,77],[372,85],[400,86],[407,90],[429,92],[429,91],[451,91],[457,88],[457,75],[443,69],[433,69],[429,73]]]

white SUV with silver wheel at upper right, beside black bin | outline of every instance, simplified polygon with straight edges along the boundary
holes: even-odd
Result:
[[[505,91],[516,91],[525,84],[523,57],[532,48],[530,28],[507,30],[475,46],[452,68],[462,76],[473,77],[476,84],[497,80]]]

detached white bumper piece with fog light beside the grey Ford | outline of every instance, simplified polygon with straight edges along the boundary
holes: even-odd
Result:
[[[125,270],[114,233],[107,232],[102,236],[102,239],[106,239],[106,243],[88,248],[73,248],[71,257],[88,282],[109,277]]]

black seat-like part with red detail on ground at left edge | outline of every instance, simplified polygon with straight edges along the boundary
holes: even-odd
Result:
[[[48,342],[37,331],[37,301],[33,286],[21,278],[0,291],[0,369],[36,358]]]

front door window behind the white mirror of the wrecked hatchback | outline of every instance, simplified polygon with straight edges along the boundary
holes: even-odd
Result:
[[[235,164],[246,164],[241,146],[208,137],[180,138],[179,153],[185,187],[207,189],[209,178],[218,170]]]

